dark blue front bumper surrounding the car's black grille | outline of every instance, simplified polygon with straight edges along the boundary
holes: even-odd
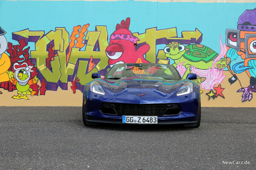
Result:
[[[101,110],[101,105],[103,102],[109,102],[107,99],[99,99],[94,97],[94,95],[89,95],[90,97],[84,98],[84,117],[87,122],[101,122],[101,123],[122,123],[122,115],[116,114],[104,114]],[[198,120],[198,109],[199,109],[199,95],[192,93],[185,96],[177,97],[177,99],[170,101],[169,99],[156,101],[145,101],[145,103],[177,103],[180,106],[180,113],[177,115],[161,115],[157,116],[158,124],[193,124],[197,123]],[[112,102],[112,101],[111,101]],[[117,102],[117,101],[113,101]],[[123,115],[125,116],[125,115]],[[131,116],[131,115],[129,115]],[[134,113],[132,116],[143,116],[136,115]],[[149,115],[145,115],[149,116]],[[155,115],[154,115],[155,116]]]

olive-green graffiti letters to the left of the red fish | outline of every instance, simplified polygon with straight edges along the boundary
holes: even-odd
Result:
[[[70,58],[67,62],[66,49],[69,45],[69,34],[65,28],[56,28],[55,31],[49,31],[42,37],[41,31],[29,31],[33,32],[32,36],[40,36],[35,42],[35,51],[31,51],[31,58],[36,59],[36,65],[41,74],[48,82],[57,83],[60,80],[63,83],[67,83],[68,75],[73,75],[76,64],[79,65],[76,77],[79,77],[80,83],[85,85],[91,80],[91,74],[104,69],[108,65],[108,57],[105,55],[105,50],[108,47],[108,32],[106,26],[96,26],[96,31],[88,31],[85,37],[87,40],[86,48],[81,51],[80,48],[72,48]],[[20,33],[21,35],[27,35]],[[30,33],[29,33],[30,34]],[[54,50],[57,51],[57,56],[51,61],[52,71],[46,66],[46,59],[48,58],[47,45],[50,42],[54,42]],[[96,44],[99,44],[95,51]],[[78,59],[100,59],[96,63],[95,67],[87,72],[87,61],[79,61]],[[67,63],[67,64],[66,64]]]

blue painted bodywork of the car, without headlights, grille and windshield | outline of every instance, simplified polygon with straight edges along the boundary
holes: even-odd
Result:
[[[105,95],[90,91],[90,83],[93,81],[99,82]],[[93,81],[84,87],[83,119],[85,124],[86,122],[122,123],[122,114],[102,112],[101,107],[105,102],[134,105],[177,104],[179,106],[180,111],[175,115],[157,115],[158,124],[186,124],[195,127],[199,116],[201,117],[200,87],[189,79],[167,81],[155,78],[128,77],[119,80],[97,78]],[[177,96],[180,87],[188,82],[193,83],[193,92]],[[132,115],[137,116],[137,113]]]

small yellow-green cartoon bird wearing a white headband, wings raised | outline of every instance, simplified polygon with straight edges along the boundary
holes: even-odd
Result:
[[[32,79],[29,79],[31,77],[31,72],[33,72],[31,69],[33,66],[29,65],[26,62],[23,62],[21,65],[18,63],[15,63],[13,65],[13,68],[15,69],[15,74],[13,75],[13,72],[8,72],[10,82],[12,82],[13,85],[16,85],[17,88],[17,96],[12,96],[13,99],[28,99],[27,95],[33,96],[36,92],[32,91],[32,88],[30,88],[30,85],[33,85],[38,82],[38,78],[35,76]],[[23,94],[23,96],[21,96]]]

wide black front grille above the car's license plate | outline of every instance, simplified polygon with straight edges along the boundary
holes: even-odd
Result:
[[[101,112],[104,114],[126,116],[163,116],[177,115],[181,111],[178,104],[127,104],[104,102]]]

